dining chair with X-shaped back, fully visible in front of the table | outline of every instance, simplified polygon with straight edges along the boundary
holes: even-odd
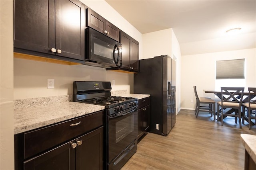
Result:
[[[221,125],[223,126],[223,119],[227,116],[235,117],[235,123],[237,118],[239,120],[239,126],[241,125],[241,107],[244,96],[244,87],[221,87],[221,101],[218,104],[218,117],[221,116]],[[224,110],[230,108],[234,109],[230,114]],[[234,113],[234,114],[233,114]]]

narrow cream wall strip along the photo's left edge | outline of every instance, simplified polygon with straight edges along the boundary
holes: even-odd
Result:
[[[0,1],[0,169],[14,169],[13,1]]]

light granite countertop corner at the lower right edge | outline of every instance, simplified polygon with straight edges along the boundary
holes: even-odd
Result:
[[[241,134],[242,143],[252,160],[256,163],[256,135]]]

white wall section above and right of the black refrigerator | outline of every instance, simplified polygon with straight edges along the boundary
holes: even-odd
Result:
[[[142,35],[143,37],[143,56],[140,59],[153,58],[159,55],[169,55],[176,61],[176,113],[180,111],[180,69],[181,54],[180,45],[173,32],[170,29],[155,31]]]

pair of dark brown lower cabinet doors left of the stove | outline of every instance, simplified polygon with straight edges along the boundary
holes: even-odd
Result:
[[[24,162],[24,170],[82,169],[103,169],[103,127]]]

